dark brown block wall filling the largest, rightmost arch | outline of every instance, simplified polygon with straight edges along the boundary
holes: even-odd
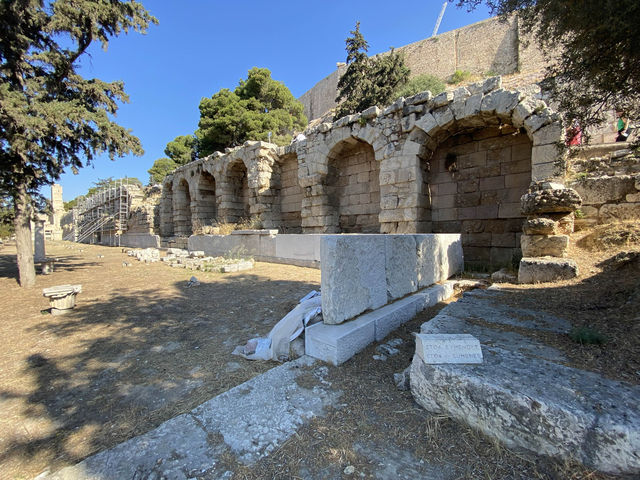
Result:
[[[512,128],[456,135],[434,153],[429,178],[433,231],[462,232],[468,265],[497,267],[517,258],[520,197],[531,182],[526,135]]]

